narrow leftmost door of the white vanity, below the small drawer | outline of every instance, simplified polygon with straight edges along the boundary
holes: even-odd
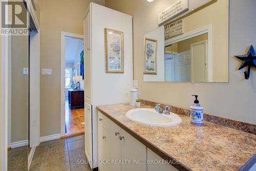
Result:
[[[98,160],[103,161],[106,160],[106,139],[109,138],[106,135],[106,130],[102,127],[101,124],[98,124]],[[106,165],[101,162],[98,163],[98,167],[100,171],[105,171]]]

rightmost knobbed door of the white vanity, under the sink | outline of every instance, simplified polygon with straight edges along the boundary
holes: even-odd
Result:
[[[121,159],[131,160],[130,164],[122,164],[121,170],[146,171],[146,146],[124,130],[121,130],[121,137]]]

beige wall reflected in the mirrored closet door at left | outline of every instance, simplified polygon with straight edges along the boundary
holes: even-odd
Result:
[[[12,36],[11,142],[28,140],[29,68],[28,36]]]

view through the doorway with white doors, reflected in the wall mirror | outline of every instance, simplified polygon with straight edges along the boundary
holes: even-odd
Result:
[[[208,33],[165,46],[166,82],[207,82]]]

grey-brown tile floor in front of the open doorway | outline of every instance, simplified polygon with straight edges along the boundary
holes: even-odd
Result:
[[[83,135],[41,142],[36,147],[29,170],[91,170],[88,164],[77,164],[77,160],[87,161]]]

